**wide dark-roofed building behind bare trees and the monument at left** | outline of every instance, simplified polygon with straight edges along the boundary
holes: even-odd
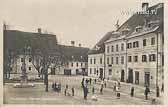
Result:
[[[4,73],[10,73],[10,79],[20,78],[25,60],[28,78],[38,78],[44,55],[42,51],[49,56],[53,52],[58,56],[56,46],[56,35],[43,34],[40,29],[37,33],[7,30],[4,25]]]

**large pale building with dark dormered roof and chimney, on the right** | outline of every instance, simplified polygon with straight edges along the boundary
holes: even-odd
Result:
[[[105,42],[106,72],[112,79],[157,86],[163,84],[163,4],[143,3],[142,9],[117,29],[116,38]]]

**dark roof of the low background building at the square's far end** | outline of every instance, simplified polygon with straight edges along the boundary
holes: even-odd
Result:
[[[89,48],[59,45],[60,53],[66,61],[84,61],[87,62],[87,53]]]

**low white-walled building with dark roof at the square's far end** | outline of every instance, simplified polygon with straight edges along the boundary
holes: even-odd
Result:
[[[79,46],[59,45],[62,55],[62,65],[56,72],[65,75],[87,75],[88,48]]]

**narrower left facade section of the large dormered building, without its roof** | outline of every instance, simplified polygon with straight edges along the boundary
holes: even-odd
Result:
[[[113,80],[121,80],[121,72],[125,74],[125,57],[126,57],[126,44],[122,37],[112,38],[105,43],[105,59],[106,59],[106,77]],[[109,48],[109,51],[107,51]],[[123,76],[125,81],[126,76]]]

